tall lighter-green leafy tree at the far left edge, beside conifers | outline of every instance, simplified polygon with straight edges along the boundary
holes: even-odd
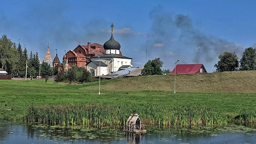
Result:
[[[14,48],[11,39],[3,35],[0,38],[0,68],[5,69],[8,74],[14,74],[18,60],[18,50]]]

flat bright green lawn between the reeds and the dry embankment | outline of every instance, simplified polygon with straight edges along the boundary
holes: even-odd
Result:
[[[112,81],[113,82],[113,81]],[[108,81],[101,81],[107,85]],[[31,105],[66,105],[70,103],[149,103],[160,108],[182,105],[215,106],[234,118],[244,107],[256,107],[253,93],[185,93],[166,91],[90,90],[98,82],[57,84],[50,80],[0,80],[0,119],[18,120]],[[5,106],[5,104],[7,106]],[[7,110],[13,108],[13,111]]]

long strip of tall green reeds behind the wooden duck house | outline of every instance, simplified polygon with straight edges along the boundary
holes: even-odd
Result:
[[[197,126],[225,124],[228,117],[212,106],[171,106],[150,104],[90,103],[57,106],[32,105],[24,113],[25,122],[50,125],[123,125],[131,113],[138,113],[144,124]]]

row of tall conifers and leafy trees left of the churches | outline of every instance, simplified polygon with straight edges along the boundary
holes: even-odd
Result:
[[[27,48],[25,46],[22,50],[20,42],[16,44],[11,39],[3,35],[0,38],[0,68],[4,69],[11,75],[26,75],[26,63],[27,63],[27,77],[39,76],[40,59],[38,53],[32,51],[28,55]],[[46,62],[42,63],[41,75],[50,75],[52,69]]]

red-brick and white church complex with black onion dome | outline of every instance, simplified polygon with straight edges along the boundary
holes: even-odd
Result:
[[[104,45],[88,42],[87,46],[79,44],[74,50],[69,50],[58,71],[66,71],[66,68],[77,65],[89,70],[92,76],[99,76],[116,72],[120,68],[132,68],[132,58],[123,56],[121,45],[114,40],[113,27],[112,23],[111,38]]]

